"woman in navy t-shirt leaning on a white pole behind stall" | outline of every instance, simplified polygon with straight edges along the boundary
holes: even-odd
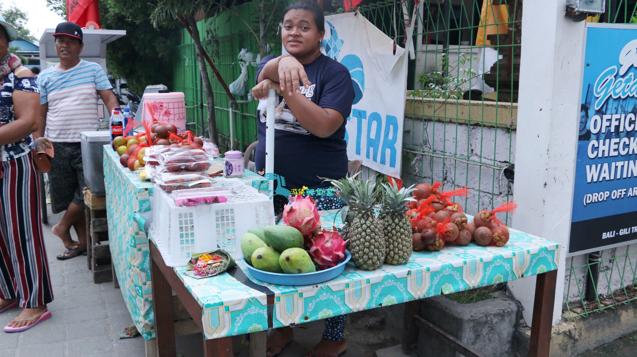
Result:
[[[268,98],[275,88],[279,102],[275,112],[274,173],[285,178],[285,188],[307,187],[319,210],[340,208],[343,201],[328,196],[329,184],[318,177],[342,179],[347,175],[345,118],[352,111],[354,86],[347,67],[323,55],[323,10],[314,0],[297,0],[283,15],[281,38],[289,55],[263,58],[257,69],[252,95]],[[256,168],[265,170],[266,112],[259,112],[259,144]],[[317,190],[320,189],[320,190]],[[307,191],[306,191],[307,192]],[[275,213],[283,211],[287,198],[274,196]],[[338,356],[347,349],[347,315],[326,319],[323,339],[308,356]],[[294,338],[292,328],[278,328],[268,337],[267,356],[280,353]]]

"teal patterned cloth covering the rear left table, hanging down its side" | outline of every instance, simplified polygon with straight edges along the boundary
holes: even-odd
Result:
[[[117,152],[104,145],[104,184],[113,270],[137,330],[145,340],[155,337],[148,238],[144,225],[152,217],[153,185],[120,165]],[[245,184],[268,190],[268,180],[246,170]],[[115,278],[115,277],[114,277]]]

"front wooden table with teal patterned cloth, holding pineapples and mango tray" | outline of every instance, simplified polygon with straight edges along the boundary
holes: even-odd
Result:
[[[323,211],[322,226],[341,227],[338,210]],[[152,236],[149,237],[152,240]],[[331,281],[310,286],[262,283],[250,276],[245,262],[226,273],[204,279],[184,274],[185,267],[168,267],[150,244],[157,343],[160,356],[175,356],[171,290],[189,311],[204,336],[204,355],[233,356],[229,337],[250,333],[250,354],[265,356],[265,332],[392,304],[405,304],[403,347],[417,339],[417,327],[427,328],[465,356],[480,356],[470,347],[417,316],[418,301],[440,293],[537,275],[529,356],[548,356],[555,277],[560,245],[511,229],[501,247],[445,246],[440,252],[414,252],[402,266],[383,265],[362,271],[352,262]]]

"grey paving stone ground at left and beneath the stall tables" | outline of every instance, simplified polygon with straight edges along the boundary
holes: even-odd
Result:
[[[113,283],[94,284],[87,268],[85,256],[57,260],[55,256],[64,246],[51,232],[62,218],[48,209],[48,224],[43,225],[45,245],[54,292],[54,301],[48,305],[53,316],[25,332],[0,331],[0,357],[145,357],[145,341],[137,336],[118,339],[125,327],[131,325],[131,316],[124,304],[120,289]],[[75,239],[75,232],[73,232]],[[0,326],[11,321],[20,309],[0,314]],[[348,356],[372,357],[375,349],[396,344],[378,318],[366,312],[352,314],[352,325],[346,327],[350,344]],[[280,357],[301,357],[310,352],[320,340],[324,322],[313,321],[306,328],[295,328],[295,339]],[[238,357],[248,357],[249,351],[241,344],[241,336],[233,337],[233,348]],[[182,357],[203,356],[201,333],[176,337],[176,349]]]

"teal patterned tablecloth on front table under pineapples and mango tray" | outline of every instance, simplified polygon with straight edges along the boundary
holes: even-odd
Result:
[[[321,219],[323,227],[342,226],[338,210],[323,211]],[[513,229],[510,237],[501,248],[472,243],[445,246],[440,252],[414,252],[406,264],[383,265],[376,271],[362,271],[350,262],[334,280],[308,286],[263,283],[250,276],[243,260],[238,264],[250,280],[275,294],[272,327],[277,328],[557,269],[559,243]],[[206,339],[268,329],[265,293],[248,288],[227,273],[194,279],[185,276],[185,267],[173,270],[203,307]]]

